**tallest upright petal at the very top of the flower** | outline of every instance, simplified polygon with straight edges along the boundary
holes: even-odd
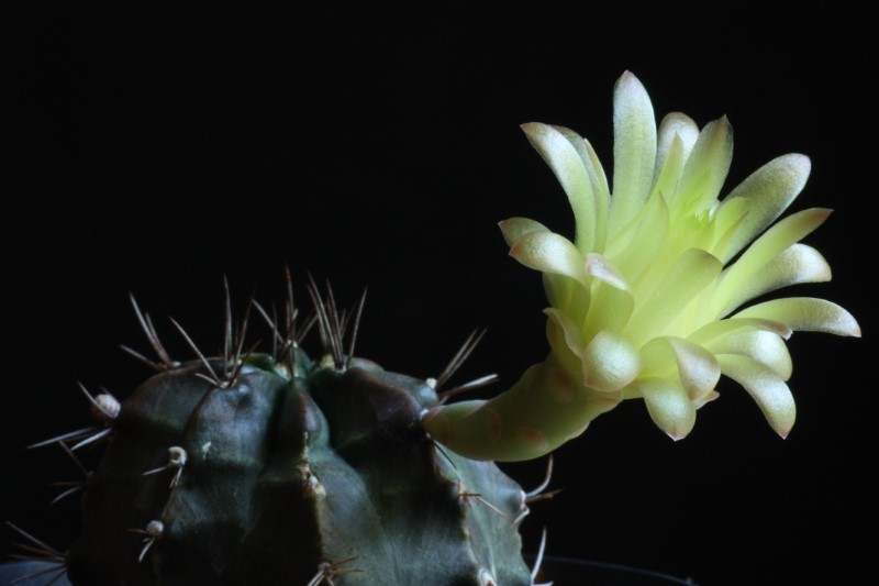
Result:
[[[622,230],[650,195],[656,163],[656,120],[641,81],[630,71],[613,92],[613,199],[609,237]]]

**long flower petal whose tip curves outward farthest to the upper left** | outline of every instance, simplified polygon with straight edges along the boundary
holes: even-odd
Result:
[[[548,124],[532,122],[523,124],[522,130],[525,131],[532,146],[553,169],[568,196],[577,225],[575,244],[583,253],[591,251],[596,235],[596,200],[592,195],[592,180],[589,178],[582,157],[568,136]],[[572,133],[572,131],[567,132]]]

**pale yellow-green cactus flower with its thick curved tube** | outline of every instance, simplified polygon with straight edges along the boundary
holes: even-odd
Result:
[[[537,457],[634,398],[679,440],[697,409],[717,398],[721,375],[783,438],[795,418],[786,340],[794,331],[860,335],[831,301],[764,297],[831,278],[824,257],[800,243],[831,210],[778,220],[809,177],[806,156],[775,158],[721,199],[733,154],[725,117],[700,130],[670,113],[657,129],[631,73],[617,81],[613,107],[612,189],[587,140],[523,125],[568,197],[576,234],[525,218],[500,223],[510,255],[543,273],[552,350],[500,396],[425,413],[432,436],[463,455]]]

